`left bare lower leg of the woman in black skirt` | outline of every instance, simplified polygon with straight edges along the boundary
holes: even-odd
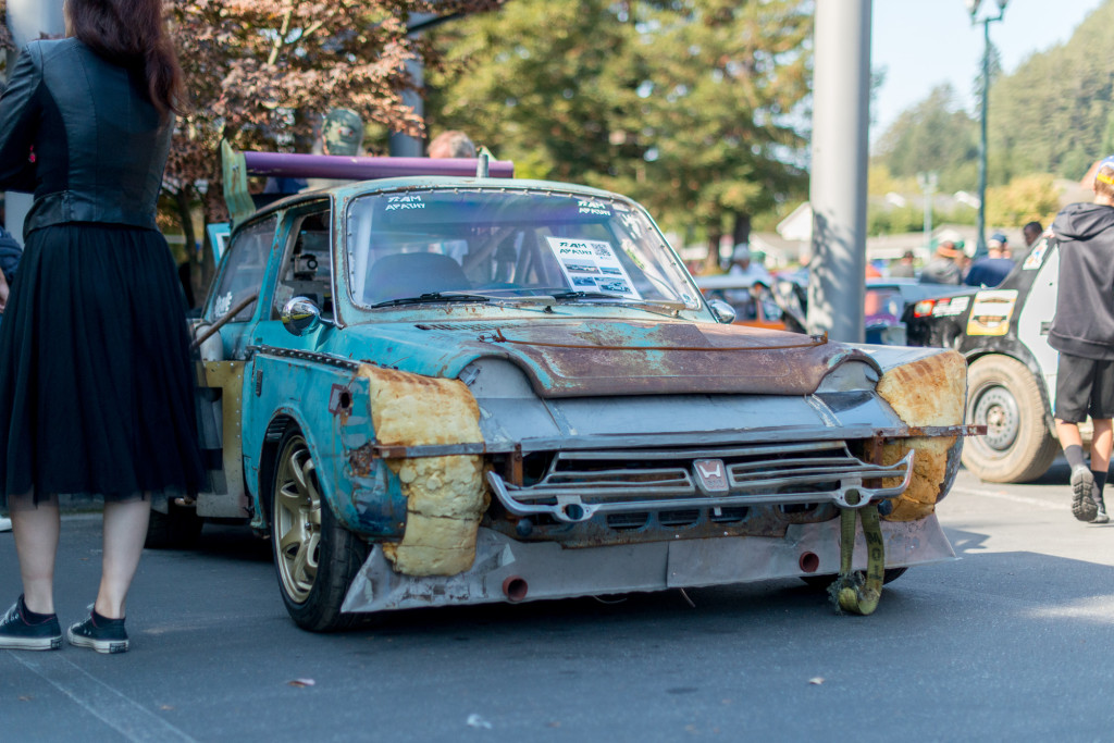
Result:
[[[36,614],[53,614],[55,558],[61,529],[58,499],[51,496],[35,504],[31,497],[27,493],[8,498],[19,575],[23,579],[23,603]]]

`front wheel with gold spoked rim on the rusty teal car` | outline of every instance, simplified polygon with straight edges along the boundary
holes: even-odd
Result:
[[[297,429],[283,434],[273,471],[267,504],[271,553],[286,610],[310,632],[360,624],[360,615],[341,614],[341,604],[368,545],[343,528],[323,501],[316,467]]]

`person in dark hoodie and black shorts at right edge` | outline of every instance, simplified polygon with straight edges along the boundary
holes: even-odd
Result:
[[[1056,434],[1072,466],[1072,514],[1106,524],[1103,486],[1114,441],[1114,156],[1098,165],[1095,198],[1071,204],[1053,222],[1059,244],[1059,290],[1048,345],[1059,351]],[[1079,423],[1091,416],[1091,467]]]

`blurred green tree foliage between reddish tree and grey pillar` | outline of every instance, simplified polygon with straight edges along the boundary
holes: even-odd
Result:
[[[429,108],[521,175],[717,239],[803,190],[811,32],[801,0],[515,0],[439,36]]]

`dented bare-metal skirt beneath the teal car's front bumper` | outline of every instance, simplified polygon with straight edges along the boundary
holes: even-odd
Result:
[[[883,521],[887,567],[955,558],[936,516]],[[862,532],[854,568],[864,569]],[[377,545],[356,575],[343,612],[383,612],[450,604],[536,600],[666,588],[716,586],[802,575],[834,575],[840,568],[840,520],[792,525],[784,537],[721,537],[563,548],[519,542],[480,528],[476,561],[450,577],[395,573]]]

